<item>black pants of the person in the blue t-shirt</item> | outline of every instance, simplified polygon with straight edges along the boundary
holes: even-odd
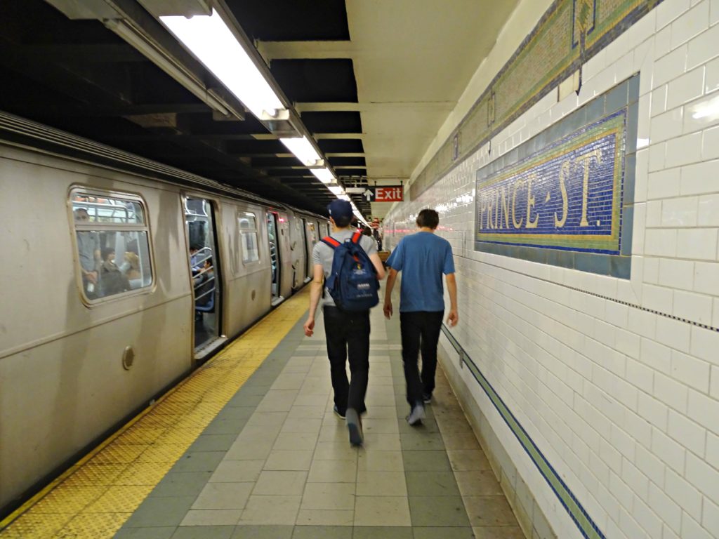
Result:
[[[434,391],[434,372],[437,369],[437,343],[444,310],[417,310],[400,313],[402,333],[402,360],[407,382],[407,402],[410,406],[422,400],[422,394]],[[422,373],[417,367],[422,351]]]

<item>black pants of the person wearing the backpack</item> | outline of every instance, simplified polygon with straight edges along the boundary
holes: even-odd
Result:
[[[370,372],[370,311],[349,313],[336,307],[323,310],[334,404],[342,415],[347,408],[364,413]],[[348,355],[350,382],[345,367]]]

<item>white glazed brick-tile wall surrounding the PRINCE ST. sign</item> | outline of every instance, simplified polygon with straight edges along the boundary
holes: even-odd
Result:
[[[585,65],[580,96],[546,96],[491,155],[485,144],[385,221],[411,230],[421,208],[440,211],[454,335],[612,539],[719,538],[719,332],[687,323],[719,327],[718,22],[719,0],[665,0]],[[475,252],[475,172],[636,72],[631,280]],[[389,232],[393,247],[402,234]],[[579,538],[471,374],[459,377],[554,532]]]

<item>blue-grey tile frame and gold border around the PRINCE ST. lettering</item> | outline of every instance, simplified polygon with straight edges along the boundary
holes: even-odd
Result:
[[[498,157],[489,165],[477,171],[477,210],[475,211],[475,251],[500,254],[502,256],[521,258],[541,264],[551,264],[574,270],[610,275],[621,279],[631,276],[631,243],[633,236],[634,183],[636,175],[636,134],[638,124],[639,75],[623,81],[601,96],[592,99],[566,118],[549,126],[544,132],[537,134],[527,142]],[[623,150],[619,155],[623,161],[623,178],[620,179],[615,193],[616,225],[618,243],[612,246],[601,246],[592,243],[592,236],[574,236],[574,239],[563,239],[557,234],[557,241],[544,241],[539,237],[532,241],[522,241],[521,234],[515,234],[511,241],[502,241],[498,237],[480,234],[480,194],[483,182],[490,181],[505,170],[521,165],[553,145],[568,140],[582,129],[587,129],[605,121],[605,119],[625,114]],[[549,193],[547,193],[549,196]],[[549,200],[549,199],[548,199]],[[486,227],[483,232],[487,232]],[[499,232],[499,231],[498,231]],[[506,231],[505,231],[506,232]],[[548,237],[551,235],[547,235]],[[509,237],[509,236],[508,236]],[[529,235],[525,235],[529,239]],[[551,236],[555,237],[555,236]],[[568,236],[564,236],[568,238]],[[491,241],[486,241],[491,239]],[[554,243],[554,244],[552,244]],[[582,245],[582,244],[585,245]]]

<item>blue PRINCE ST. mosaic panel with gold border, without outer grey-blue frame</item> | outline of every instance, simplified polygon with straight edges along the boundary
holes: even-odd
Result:
[[[625,124],[619,111],[478,173],[476,241],[618,254]]]

